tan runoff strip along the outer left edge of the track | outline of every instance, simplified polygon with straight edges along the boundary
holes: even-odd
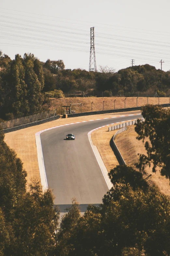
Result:
[[[30,182],[32,179],[36,179],[40,181],[36,144],[35,144],[36,132],[43,129],[51,128],[54,126],[76,123],[81,121],[88,121],[88,120],[97,119],[97,118],[102,119],[106,117],[111,117],[113,115],[119,116],[125,113],[126,114],[140,113],[140,111],[100,114],[100,115],[93,115],[93,117],[80,116],[80,117],[72,117],[72,118],[66,118],[66,119],[61,118],[45,124],[6,133],[5,142],[10,148],[15,150],[17,157],[19,157],[23,162],[23,167],[27,172],[27,181]]]

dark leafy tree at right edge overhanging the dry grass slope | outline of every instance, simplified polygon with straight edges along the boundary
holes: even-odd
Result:
[[[145,171],[146,166],[152,165],[152,171],[157,167],[162,176],[170,179],[170,110],[158,105],[142,107],[142,116],[145,122],[136,124],[135,131],[138,140],[149,138],[145,142],[147,155],[140,154],[136,167]]]

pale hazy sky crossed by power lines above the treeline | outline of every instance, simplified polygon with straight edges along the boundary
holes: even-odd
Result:
[[[0,49],[14,59],[33,53],[41,61],[63,60],[65,68],[89,70],[94,26],[97,69],[118,71],[150,64],[170,69],[168,0],[1,0]]]

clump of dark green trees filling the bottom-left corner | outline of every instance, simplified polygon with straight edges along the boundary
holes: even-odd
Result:
[[[0,133],[0,255],[54,255],[58,220],[50,190],[34,181],[26,191],[21,160]]]

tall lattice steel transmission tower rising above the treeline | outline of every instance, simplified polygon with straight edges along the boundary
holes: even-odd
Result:
[[[97,72],[96,57],[95,57],[95,50],[94,50],[94,27],[90,28],[90,62],[89,62],[89,71]]]

